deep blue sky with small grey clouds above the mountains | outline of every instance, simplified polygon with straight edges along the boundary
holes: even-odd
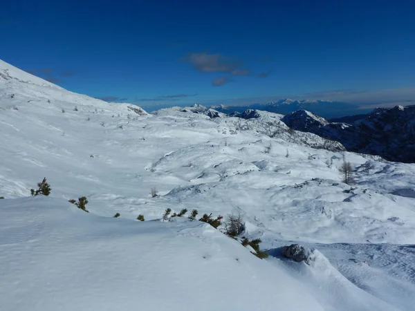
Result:
[[[415,100],[414,12],[405,0],[14,0],[1,4],[0,58],[142,106]]]

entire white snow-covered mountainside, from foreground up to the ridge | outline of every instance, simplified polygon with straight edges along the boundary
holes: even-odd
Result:
[[[0,65],[5,310],[412,310],[414,164],[329,151],[274,113],[148,115]],[[30,197],[44,177],[50,196]],[[80,196],[89,214],[67,202]],[[162,222],[166,208],[241,211],[271,258],[198,221]],[[315,265],[279,256],[292,242],[317,248]]]

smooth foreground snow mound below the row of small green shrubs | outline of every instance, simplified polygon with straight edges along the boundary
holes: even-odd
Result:
[[[1,200],[0,247],[2,310],[323,310],[282,269],[198,221]]]

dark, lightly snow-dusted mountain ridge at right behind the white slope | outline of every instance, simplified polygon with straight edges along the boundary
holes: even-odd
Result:
[[[297,131],[335,140],[349,151],[370,153],[387,160],[415,162],[415,106],[375,109],[356,124],[330,123],[299,110],[282,118]]]

